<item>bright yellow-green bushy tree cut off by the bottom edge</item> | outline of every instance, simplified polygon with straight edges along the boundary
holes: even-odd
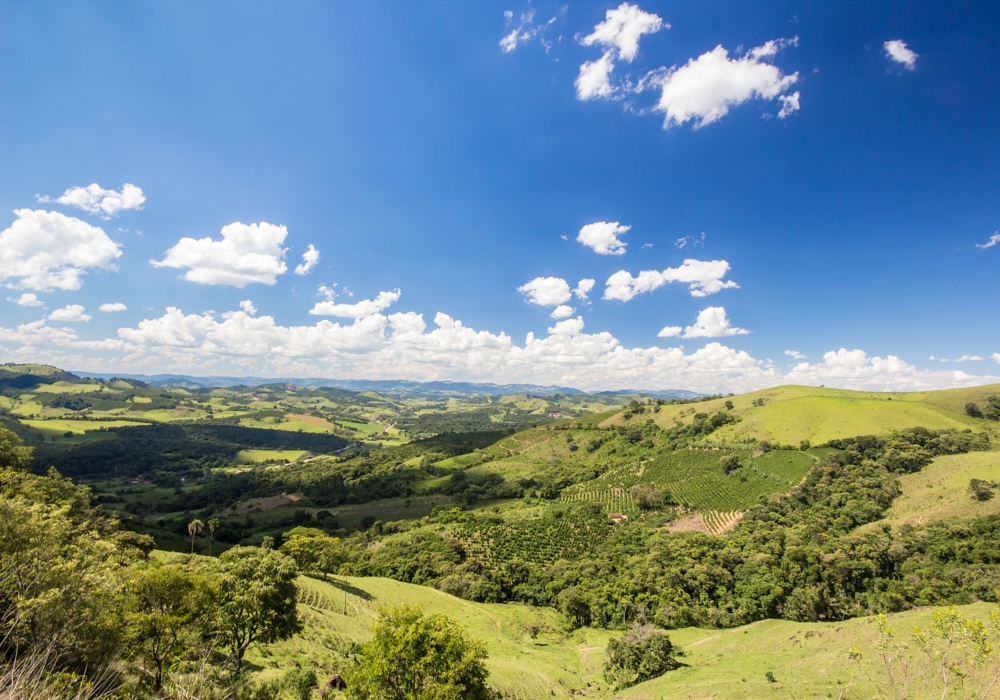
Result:
[[[379,610],[374,637],[347,673],[352,700],[492,700],[486,647],[444,615],[419,606]]]

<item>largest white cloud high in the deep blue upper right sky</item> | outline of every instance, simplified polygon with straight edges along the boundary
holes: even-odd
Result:
[[[695,128],[724,117],[730,108],[753,98],[781,97],[799,79],[798,73],[784,75],[767,61],[778,50],[797,40],[779,39],[751,49],[741,58],[717,46],[680,68],[672,68],[655,79],[660,99],[654,109],[663,112],[663,127],[680,126],[694,120]],[[785,96],[782,116],[798,108],[798,95]],[[794,107],[793,107],[794,105]]]

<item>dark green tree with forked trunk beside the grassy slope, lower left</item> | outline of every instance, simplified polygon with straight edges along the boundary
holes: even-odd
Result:
[[[295,561],[266,547],[233,547],[219,557],[215,626],[237,671],[251,644],[270,644],[301,631]]]

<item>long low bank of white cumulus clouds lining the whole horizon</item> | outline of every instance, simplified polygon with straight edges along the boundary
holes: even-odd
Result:
[[[118,330],[117,338],[82,340],[71,328],[46,322],[0,327],[0,342],[20,345],[11,356],[54,360],[61,348],[100,352],[73,355],[112,371],[176,371],[256,376],[357,376],[372,379],[530,382],[584,390],[686,388],[704,393],[749,391],[781,383],[826,384],[853,389],[935,389],[1000,381],[953,371],[918,371],[898,358],[863,351],[827,353],[783,376],[769,362],[717,341],[685,353],[680,347],[628,348],[608,332],[587,333],[582,318],[566,318],[523,344],[505,333],[477,331],[444,313],[430,329],[422,314],[381,313],[350,323],[327,319],[282,326],[244,303],[219,316],[169,308],[159,318]],[[118,353],[118,354],[114,354]],[[1000,362],[1000,353],[994,356]]]

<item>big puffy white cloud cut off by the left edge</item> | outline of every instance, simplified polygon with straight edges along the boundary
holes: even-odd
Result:
[[[15,209],[0,233],[0,280],[10,288],[77,290],[87,268],[117,270],[122,251],[96,226],[60,214]]]

